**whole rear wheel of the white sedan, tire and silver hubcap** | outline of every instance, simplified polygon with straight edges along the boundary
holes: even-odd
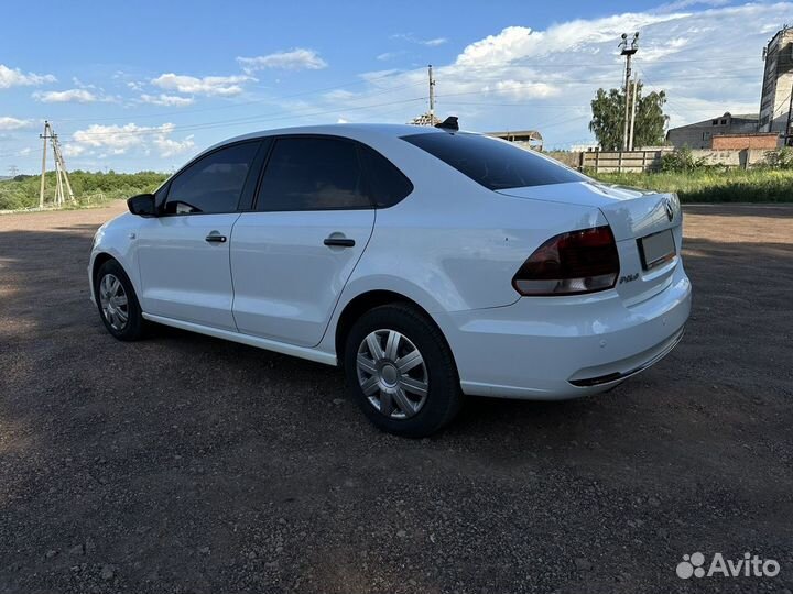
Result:
[[[356,321],[345,342],[345,375],[367,418],[389,433],[430,436],[463,405],[446,339],[408,304],[377,307]]]

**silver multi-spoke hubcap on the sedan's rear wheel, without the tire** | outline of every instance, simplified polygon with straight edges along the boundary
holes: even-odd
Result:
[[[382,415],[406,419],[426,403],[430,380],[424,358],[395,330],[376,330],[366,337],[356,366],[363,394]]]

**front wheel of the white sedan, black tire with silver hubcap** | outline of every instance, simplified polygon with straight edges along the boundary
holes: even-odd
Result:
[[[123,341],[143,336],[144,321],[138,296],[121,264],[108,260],[99,267],[94,279],[94,295],[108,332]]]

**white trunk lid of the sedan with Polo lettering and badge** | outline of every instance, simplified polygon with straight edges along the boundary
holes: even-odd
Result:
[[[641,302],[672,283],[683,233],[674,194],[575,182],[498,190],[499,194],[598,208],[611,227],[620,258],[616,289],[627,306]],[[673,250],[673,254],[663,257]]]

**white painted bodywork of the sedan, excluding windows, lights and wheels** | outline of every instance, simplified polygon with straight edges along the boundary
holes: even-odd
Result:
[[[371,210],[167,219],[173,222],[124,213],[97,232],[89,277],[97,256],[109,254],[141,296],[144,318],[327,364],[341,355],[336,331],[345,308],[369,292],[389,290],[432,317],[471,395],[553,399],[602,392],[623,377],[572,382],[629,375],[676,344],[691,308],[676,199],[670,220],[670,195],[606,187],[585,176],[496,193],[400,138],[416,133],[446,132],[344,124],[233,139],[354,139],[385,155],[414,190]],[[512,287],[545,240],[605,224],[617,240],[620,274],[636,275],[633,282],[553,297],[521,297]],[[637,239],[665,229],[673,230],[677,257],[642,271]],[[210,231],[229,241],[206,243]],[[323,245],[332,233],[354,238],[355,250]]]

